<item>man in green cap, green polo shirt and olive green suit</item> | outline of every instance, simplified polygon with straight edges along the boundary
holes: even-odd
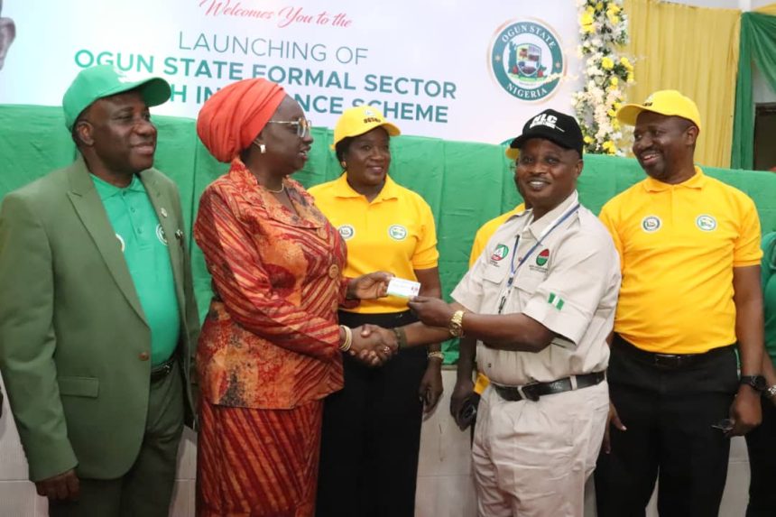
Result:
[[[84,69],[79,150],[0,207],[0,372],[51,515],[167,515],[199,321],[178,189],[152,169],[162,78]]]

